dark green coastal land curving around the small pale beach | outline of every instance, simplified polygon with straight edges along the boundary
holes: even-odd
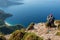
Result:
[[[3,10],[0,10],[0,33],[9,34],[15,30],[23,28],[22,25],[8,26],[5,24],[5,19],[11,17],[12,14],[6,13]]]

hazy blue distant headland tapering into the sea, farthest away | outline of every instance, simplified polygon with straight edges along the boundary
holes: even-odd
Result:
[[[0,0],[0,7],[8,7],[8,6],[20,5],[20,4],[23,4],[23,3],[13,2],[9,0]]]

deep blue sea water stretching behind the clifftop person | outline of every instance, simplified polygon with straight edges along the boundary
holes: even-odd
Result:
[[[60,0],[23,0],[22,5],[13,5],[3,9],[13,16],[6,19],[12,25],[22,24],[28,26],[31,22],[46,22],[46,17],[52,13],[60,19]]]

